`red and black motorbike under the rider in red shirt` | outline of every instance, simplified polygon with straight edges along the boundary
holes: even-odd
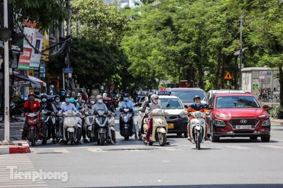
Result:
[[[31,142],[32,146],[36,145],[36,141],[40,139],[40,118],[42,117],[42,113],[30,112],[25,113],[25,119],[27,121],[27,135],[26,138],[29,142]],[[46,143],[46,138],[41,139],[41,144]]]

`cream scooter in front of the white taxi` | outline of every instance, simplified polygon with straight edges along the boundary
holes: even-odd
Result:
[[[147,104],[148,105],[148,104]],[[155,109],[152,111],[152,133],[148,140],[148,145],[152,146],[154,142],[159,142],[160,146],[164,146],[166,143],[166,135],[168,130],[168,125],[165,119],[165,115],[168,113],[164,112],[162,109]],[[147,121],[148,118],[144,118],[143,121],[143,130],[147,131]],[[145,139],[145,134],[142,134],[142,137]]]

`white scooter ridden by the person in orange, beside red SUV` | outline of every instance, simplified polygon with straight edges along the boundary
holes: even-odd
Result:
[[[202,118],[206,113],[200,111],[190,112],[190,115],[195,118],[190,120],[190,137],[191,142],[196,144],[196,149],[201,149],[201,143],[204,143],[205,139],[205,119]]]

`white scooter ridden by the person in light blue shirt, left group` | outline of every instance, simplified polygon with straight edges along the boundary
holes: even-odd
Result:
[[[76,135],[76,129],[78,128],[78,118],[76,118],[76,116],[78,115],[76,112],[72,110],[68,110],[67,112],[64,112],[63,115],[65,115],[63,122],[64,144],[67,145],[68,141],[70,141],[70,145],[73,145]]]

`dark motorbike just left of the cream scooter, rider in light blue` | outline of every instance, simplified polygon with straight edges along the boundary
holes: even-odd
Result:
[[[133,109],[122,108],[120,109],[120,134],[124,140],[129,140],[129,137],[134,135],[133,132]]]

